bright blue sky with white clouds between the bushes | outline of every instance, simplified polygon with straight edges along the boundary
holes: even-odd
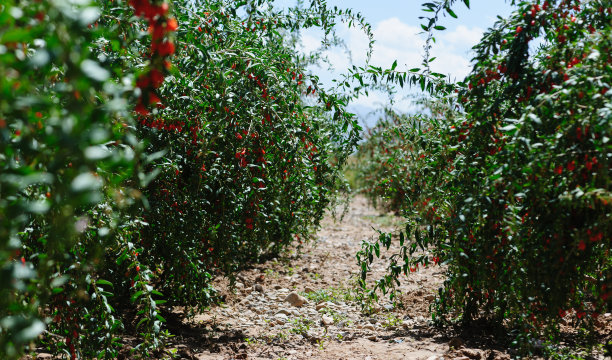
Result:
[[[388,68],[397,60],[398,70],[407,70],[418,67],[423,56],[423,43],[425,36],[421,34],[419,16],[426,15],[421,9],[425,0],[328,0],[329,6],[351,8],[361,12],[371,24],[375,46],[371,64]],[[308,3],[309,0],[304,0]],[[277,1],[279,6],[295,4],[294,0]],[[493,25],[496,16],[503,17],[512,11],[509,1],[505,0],[472,0],[470,9],[457,1],[453,8],[458,18],[444,17],[440,24],[447,29],[436,34],[436,44],[432,56],[436,60],[432,63],[432,70],[448,74],[451,78],[461,80],[470,69],[472,57],[471,47],[478,43],[483,31]],[[348,29],[345,25],[339,26],[339,35],[351,49],[353,64],[360,66],[365,63],[367,38],[357,29]],[[302,36],[302,50],[312,51],[319,47],[321,34],[315,31],[306,31]],[[325,52],[336,70],[326,72],[324,69],[312,69],[320,75],[325,87],[332,85],[331,79],[342,69],[350,66],[347,54],[338,48]],[[403,95],[409,94],[405,91]],[[410,111],[409,100],[396,98],[395,107],[401,111]],[[368,97],[361,97],[353,103],[353,111],[361,113],[377,108],[388,102],[382,93],[372,93]],[[371,125],[372,120],[367,121]]]

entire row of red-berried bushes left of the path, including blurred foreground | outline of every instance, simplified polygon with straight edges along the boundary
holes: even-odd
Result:
[[[0,5],[0,357],[149,356],[164,307],[316,228],[359,127],[293,36],[369,25],[269,4]]]

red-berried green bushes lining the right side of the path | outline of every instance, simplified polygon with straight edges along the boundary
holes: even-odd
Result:
[[[455,93],[373,129],[360,150],[365,191],[407,226],[371,296],[441,264],[436,321],[503,327],[525,352],[568,319],[587,344],[610,341],[595,324],[612,308],[611,12],[603,1],[518,3],[474,48]],[[394,238],[364,245],[364,288]]]

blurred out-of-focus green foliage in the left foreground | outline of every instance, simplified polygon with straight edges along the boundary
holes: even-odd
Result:
[[[112,288],[91,273],[132,227],[142,146],[122,126],[132,88],[111,76],[129,73],[92,48],[117,35],[91,27],[99,16],[88,2],[0,6],[3,358],[45,329],[62,339],[50,346],[73,357],[80,348],[113,356]]]

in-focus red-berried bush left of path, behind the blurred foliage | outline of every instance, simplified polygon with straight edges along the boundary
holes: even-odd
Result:
[[[144,190],[146,265],[170,299],[200,306],[213,268],[278,253],[318,223],[358,130],[296,61],[278,31],[286,15],[223,5],[177,7],[173,81],[138,127],[164,152]]]

